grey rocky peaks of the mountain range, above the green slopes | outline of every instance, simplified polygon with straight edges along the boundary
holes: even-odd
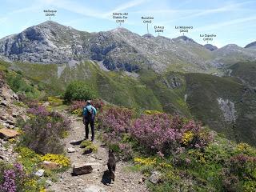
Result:
[[[256,50],[251,49],[254,44],[217,49],[202,46],[186,36],[140,36],[124,28],[88,33],[47,21],[2,38],[0,54],[12,61],[44,64],[91,59],[102,62],[108,70],[130,72],[148,67],[158,72],[207,72],[235,62],[256,60]]]

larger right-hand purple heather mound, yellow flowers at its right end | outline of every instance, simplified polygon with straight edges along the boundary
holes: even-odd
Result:
[[[200,123],[168,114],[142,115],[130,126],[130,133],[148,150],[168,154],[184,146],[184,134],[190,133],[186,147],[203,148],[211,141],[210,134],[202,131]]]

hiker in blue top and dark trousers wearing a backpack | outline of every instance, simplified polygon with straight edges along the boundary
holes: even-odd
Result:
[[[89,138],[89,124],[91,128],[91,141],[94,141],[94,119],[97,114],[97,110],[94,106],[91,105],[90,100],[86,102],[84,106],[82,115],[83,115],[83,124],[86,126],[86,139]]]

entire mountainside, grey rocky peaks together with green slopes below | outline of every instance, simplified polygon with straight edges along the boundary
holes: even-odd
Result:
[[[0,39],[0,64],[62,94],[85,81],[107,102],[193,117],[256,146],[256,49],[202,46],[124,28],[88,33],[43,22]]]

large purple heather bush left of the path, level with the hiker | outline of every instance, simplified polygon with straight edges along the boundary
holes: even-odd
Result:
[[[63,146],[60,139],[70,130],[70,120],[58,112],[49,112],[43,106],[27,110],[32,114],[26,122],[20,122],[24,132],[21,144],[38,154],[60,154]]]

